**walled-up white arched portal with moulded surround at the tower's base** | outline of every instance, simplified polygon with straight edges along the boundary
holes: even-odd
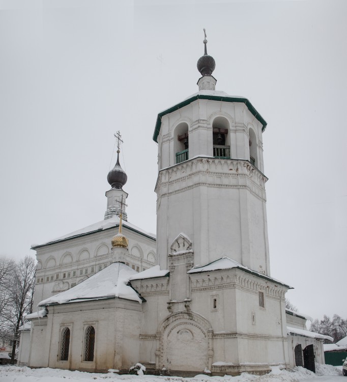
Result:
[[[211,368],[212,327],[193,312],[176,312],[168,316],[157,333],[156,368],[204,372]]]

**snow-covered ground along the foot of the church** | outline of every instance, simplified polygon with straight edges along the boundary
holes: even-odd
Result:
[[[347,382],[342,376],[342,367],[317,365],[316,374],[302,367],[293,371],[279,370],[274,367],[269,374],[251,375],[243,373],[240,376],[209,377],[196,375],[193,378],[153,376],[153,375],[118,375],[114,373],[97,374],[81,371],[60,369],[30,369],[28,367],[0,366],[1,382]]]

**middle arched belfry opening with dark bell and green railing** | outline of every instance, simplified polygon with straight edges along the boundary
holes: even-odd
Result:
[[[213,156],[230,158],[229,122],[224,117],[216,117],[212,123]]]

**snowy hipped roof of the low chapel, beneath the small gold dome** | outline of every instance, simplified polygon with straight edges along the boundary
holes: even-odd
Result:
[[[73,288],[41,301],[38,306],[81,302],[91,299],[120,297],[142,303],[137,292],[128,284],[137,272],[124,263],[112,263]]]

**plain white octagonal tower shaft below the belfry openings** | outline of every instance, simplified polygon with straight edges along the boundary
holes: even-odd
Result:
[[[159,174],[157,253],[162,268],[172,241],[192,240],[194,265],[228,256],[270,275],[265,178],[249,162],[195,158]]]

